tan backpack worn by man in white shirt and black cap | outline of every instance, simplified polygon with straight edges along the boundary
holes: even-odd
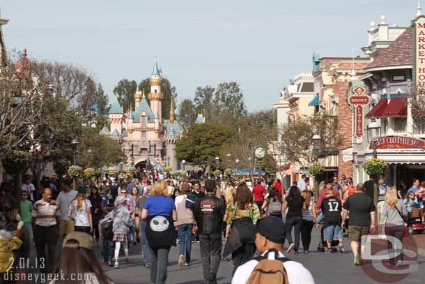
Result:
[[[275,253],[275,260],[268,259],[269,253]],[[277,253],[275,249],[271,249],[264,256],[254,258],[254,260],[258,261],[258,264],[254,267],[251,275],[249,275],[246,284],[288,284],[288,274],[286,274],[286,269],[283,263],[289,259],[278,256],[279,253]]]

